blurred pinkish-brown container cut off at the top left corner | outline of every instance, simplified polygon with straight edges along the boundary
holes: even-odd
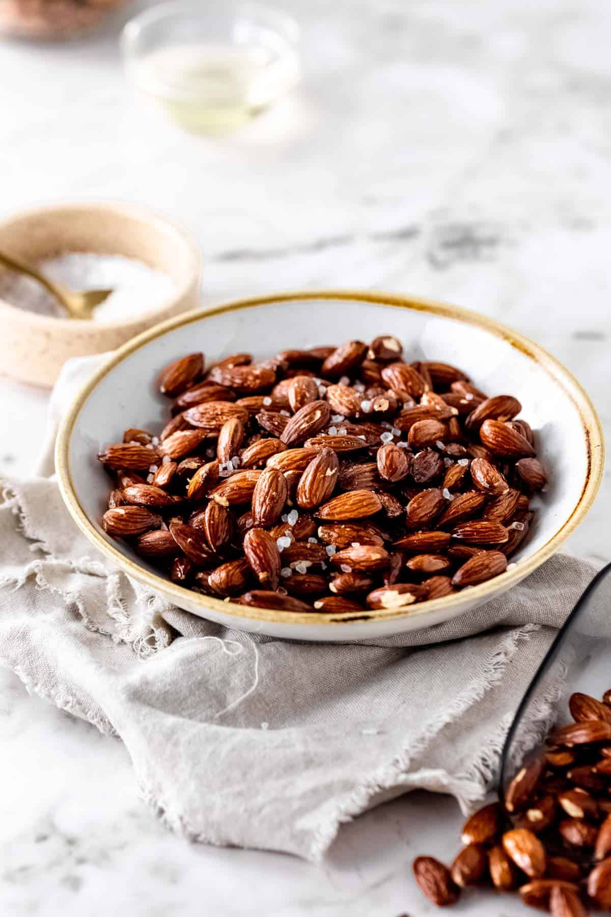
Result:
[[[127,0],[0,0],[0,33],[70,39],[95,28]]]

